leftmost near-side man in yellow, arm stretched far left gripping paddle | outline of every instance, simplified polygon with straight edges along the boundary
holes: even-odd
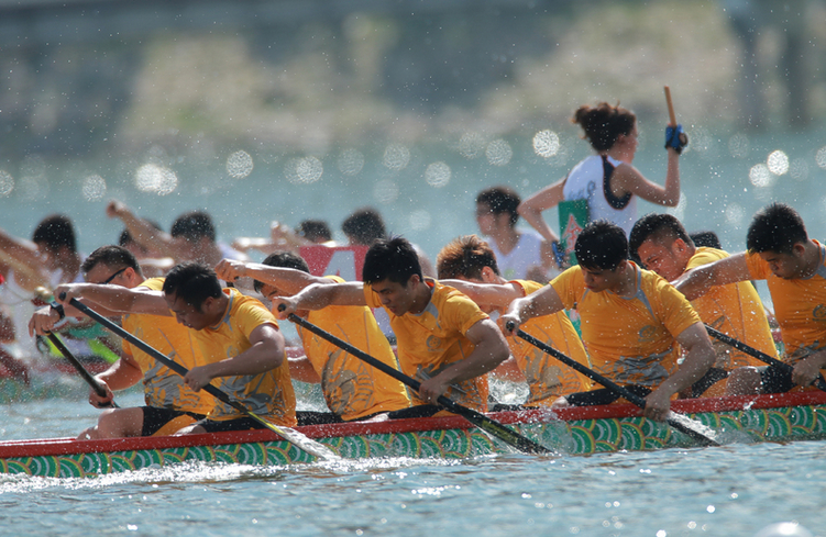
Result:
[[[161,291],[110,289],[111,286],[60,286],[63,302],[84,298],[110,311],[174,315],[190,328],[205,365],[184,380],[200,390],[213,379],[218,388],[250,412],[276,425],[296,424],[296,398],[284,353],[284,336],[272,313],[257,299],[221,289],[214,271],[198,262],[176,265]],[[58,299],[60,300],[60,299]],[[263,428],[258,421],[216,401],[207,416],[178,434]]]

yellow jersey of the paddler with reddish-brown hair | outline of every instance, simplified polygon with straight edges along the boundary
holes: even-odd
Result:
[[[528,280],[513,280],[510,283],[522,290],[522,297],[544,287],[542,283]],[[522,325],[522,329],[569,358],[585,367],[591,367],[585,347],[565,312],[533,317]],[[528,342],[511,336],[508,337],[508,346],[519,369],[528,380],[529,393],[524,403],[525,406],[550,405],[560,396],[583,392],[591,388],[591,379],[542,353]]]

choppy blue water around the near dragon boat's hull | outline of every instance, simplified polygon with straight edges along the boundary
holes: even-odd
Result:
[[[4,411],[7,439],[76,434],[96,415],[65,400]],[[750,536],[794,519],[824,535],[824,441],[801,441],[591,457],[192,463],[96,479],[0,477],[0,534]]]

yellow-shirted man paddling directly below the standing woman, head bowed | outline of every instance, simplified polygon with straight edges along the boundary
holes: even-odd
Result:
[[[596,372],[645,396],[646,417],[667,419],[671,398],[715,361],[705,326],[671,283],[628,259],[628,240],[618,225],[590,223],[576,238],[575,254],[580,265],[510,304],[499,317],[503,331],[510,335],[514,326],[533,317],[576,307]],[[685,351],[679,367],[678,344]],[[595,389],[561,398],[558,404],[608,404],[617,399],[613,391]]]

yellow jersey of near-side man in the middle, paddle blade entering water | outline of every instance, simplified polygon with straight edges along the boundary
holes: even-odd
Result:
[[[401,371],[419,381],[436,377],[453,362],[467,358],[474,345],[465,333],[487,314],[463,293],[436,280],[426,278],[430,287],[430,302],[419,314],[397,316],[385,309],[396,334],[396,349]],[[364,298],[371,307],[382,307],[378,297],[364,284]],[[487,376],[451,385],[445,396],[478,412],[487,410]],[[422,404],[416,393],[414,403]]]

